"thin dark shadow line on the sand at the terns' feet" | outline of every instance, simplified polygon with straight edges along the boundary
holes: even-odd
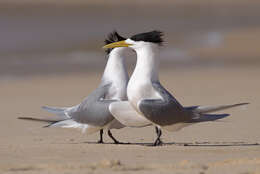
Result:
[[[115,144],[112,142],[104,142],[102,144],[98,143],[98,142],[89,142],[89,141],[85,141],[85,142],[81,142],[81,143],[71,143],[71,144],[97,144],[97,145],[106,145],[106,144],[110,144],[110,145],[139,145],[139,146],[148,146],[148,147],[155,147],[153,145],[153,143],[120,143],[120,144]],[[248,142],[164,142],[162,145],[160,146],[192,146],[192,147],[228,147],[228,146],[260,146],[260,143],[248,143]]]

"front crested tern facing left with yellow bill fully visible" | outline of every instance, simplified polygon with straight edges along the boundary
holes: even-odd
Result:
[[[159,81],[159,52],[163,33],[151,31],[136,34],[126,40],[105,45],[103,48],[130,47],[137,54],[136,67],[127,86],[128,101],[115,102],[109,106],[113,116],[124,125],[144,125],[149,122],[157,126],[154,145],[160,145],[161,128],[178,131],[193,123],[215,121],[229,114],[209,114],[223,109],[246,105],[182,106]],[[135,110],[138,114],[121,114]],[[126,110],[124,112],[127,112]],[[130,118],[131,116],[131,118]],[[142,116],[142,118],[140,118]]]

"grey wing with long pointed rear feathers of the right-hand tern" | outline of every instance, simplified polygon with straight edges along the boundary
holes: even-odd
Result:
[[[161,84],[153,82],[153,88],[160,94],[162,99],[144,99],[139,103],[139,109],[151,122],[167,126],[175,123],[198,123],[215,121],[225,118],[229,114],[207,114],[225,110],[249,103],[238,103],[220,106],[190,106],[183,107]],[[187,124],[188,125],[188,124]]]

